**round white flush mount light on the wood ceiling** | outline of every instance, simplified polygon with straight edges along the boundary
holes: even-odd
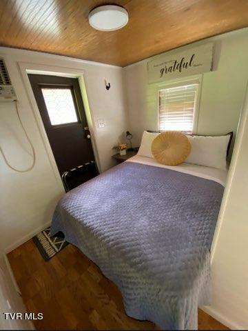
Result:
[[[94,8],[89,14],[92,28],[101,31],[114,31],[123,28],[128,22],[125,8],[107,5]]]

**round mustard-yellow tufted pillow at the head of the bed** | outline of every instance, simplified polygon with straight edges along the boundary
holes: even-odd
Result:
[[[152,141],[152,155],[165,165],[177,165],[189,156],[191,144],[185,134],[165,131]]]

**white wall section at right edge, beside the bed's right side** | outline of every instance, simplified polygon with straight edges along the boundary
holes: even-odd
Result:
[[[206,311],[231,329],[248,330],[248,90],[218,224]]]

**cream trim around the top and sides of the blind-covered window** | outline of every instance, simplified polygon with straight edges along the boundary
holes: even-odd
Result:
[[[185,77],[185,79],[173,79],[171,81],[166,81],[160,83],[156,86],[156,110],[157,110],[157,131],[159,131],[160,123],[159,123],[159,91],[165,90],[167,88],[176,88],[177,86],[183,85],[191,85],[194,83],[198,83],[198,90],[196,93],[196,107],[194,109],[193,114],[193,128],[191,134],[198,133],[198,118],[200,113],[200,97],[201,97],[201,90],[202,90],[202,81],[203,81],[203,74],[198,74],[191,77]]]

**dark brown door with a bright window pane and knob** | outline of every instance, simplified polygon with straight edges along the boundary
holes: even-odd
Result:
[[[28,77],[60,174],[94,161],[78,79]]]

